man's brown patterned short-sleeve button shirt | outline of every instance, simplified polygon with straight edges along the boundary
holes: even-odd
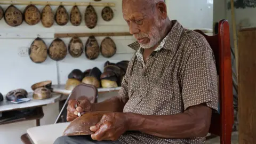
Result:
[[[145,65],[138,56],[140,45],[129,45],[133,55],[119,94],[129,98],[124,113],[175,115],[206,103],[218,110],[218,79],[212,49],[206,39],[183,28],[176,20],[161,49]],[[126,132],[121,143],[204,143],[205,138],[164,139],[141,132]]]

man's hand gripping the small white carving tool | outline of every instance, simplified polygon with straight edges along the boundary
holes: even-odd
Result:
[[[82,101],[69,100],[67,110],[67,121],[70,122],[78,117],[78,113],[82,114],[91,111],[91,102],[87,99]]]

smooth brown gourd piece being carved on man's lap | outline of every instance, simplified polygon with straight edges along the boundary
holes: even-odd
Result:
[[[107,113],[109,113],[109,111],[93,111],[85,113],[74,119],[73,122],[70,122],[63,132],[63,135],[73,136],[93,134],[94,132],[90,130],[90,127],[100,122],[102,116]]]

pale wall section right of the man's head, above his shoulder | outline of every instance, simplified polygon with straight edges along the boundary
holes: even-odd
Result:
[[[213,0],[165,0],[165,2],[169,18],[178,20],[183,27],[212,29]]]

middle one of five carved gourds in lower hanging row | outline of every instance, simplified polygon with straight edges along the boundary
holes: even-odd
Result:
[[[78,37],[73,37],[68,45],[68,51],[71,57],[78,58],[83,53],[83,42]]]

